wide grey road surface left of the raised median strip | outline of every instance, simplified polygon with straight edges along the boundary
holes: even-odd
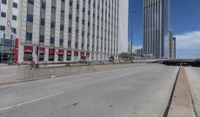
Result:
[[[0,117],[162,117],[177,72],[150,65],[0,86]]]

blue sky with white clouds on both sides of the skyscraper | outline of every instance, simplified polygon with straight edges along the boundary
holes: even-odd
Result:
[[[177,38],[177,57],[200,57],[200,0],[171,0],[172,29]],[[133,48],[142,48],[143,0],[129,0],[129,36],[133,29]],[[131,17],[130,11],[136,11]],[[134,21],[134,22],[133,22]],[[134,28],[132,28],[134,27]]]

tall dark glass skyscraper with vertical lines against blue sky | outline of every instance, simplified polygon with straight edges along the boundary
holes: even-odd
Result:
[[[170,0],[143,0],[143,52],[154,58],[169,58]]]

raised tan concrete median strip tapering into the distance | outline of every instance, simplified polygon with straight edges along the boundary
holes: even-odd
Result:
[[[195,117],[189,83],[184,67],[180,68],[167,117]]]

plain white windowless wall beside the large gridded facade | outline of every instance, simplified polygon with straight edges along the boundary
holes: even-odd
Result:
[[[119,53],[128,52],[129,0],[119,0]]]

